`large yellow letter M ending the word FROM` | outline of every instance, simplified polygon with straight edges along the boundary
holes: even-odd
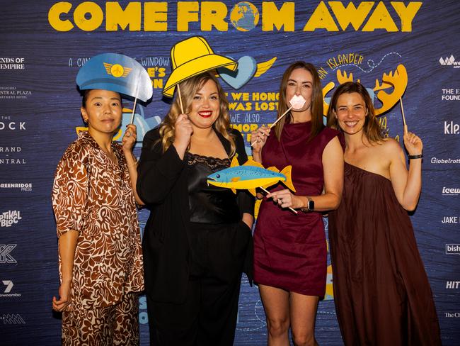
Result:
[[[262,3],[262,31],[278,31],[284,27],[284,31],[294,31],[295,3],[285,2],[281,9],[277,9],[274,2]]]

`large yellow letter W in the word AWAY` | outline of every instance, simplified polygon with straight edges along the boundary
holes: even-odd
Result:
[[[345,31],[347,26],[351,24],[356,31],[360,28],[364,19],[366,19],[369,11],[371,11],[374,1],[362,1],[358,8],[352,2],[345,8],[340,1],[329,1],[329,6],[342,30]]]

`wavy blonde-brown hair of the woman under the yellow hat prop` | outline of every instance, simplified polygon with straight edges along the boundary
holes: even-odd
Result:
[[[235,154],[236,147],[234,138],[230,133],[229,101],[226,98],[222,86],[219,84],[216,77],[214,77],[214,74],[211,72],[205,72],[186,79],[184,82],[180,83],[180,96],[182,96],[184,111],[185,113],[190,112],[193,97],[209,80],[212,80],[217,86],[220,104],[219,117],[213,126],[217,132],[226,138],[226,140],[229,140],[231,151],[230,156],[233,156]],[[174,124],[176,124],[180,113],[180,101],[176,94],[176,99],[174,99],[171,108],[169,108],[168,114],[160,125],[160,138],[163,152],[168,150],[168,147],[170,147],[174,142]]]

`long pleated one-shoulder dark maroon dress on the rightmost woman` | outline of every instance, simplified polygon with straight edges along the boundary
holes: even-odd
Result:
[[[342,203],[329,213],[329,240],[345,345],[441,345],[412,224],[389,179],[345,162]]]

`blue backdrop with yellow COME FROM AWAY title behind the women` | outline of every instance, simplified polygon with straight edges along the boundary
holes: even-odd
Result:
[[[245,138],[275,120],[284,69],[314,63],[328,98],[360,80],[374,96],[387,135],[423,139],[423,188],[411,216],[442,328],[460,343],[460,5],[425,1],[0,1],[0,343],[59,345],[57,238],[50,192],[54,169],[84,127],[75,77],[90,57],[117,52],[149,73],[154,96],[138,104],[139,143],[165,116],[161,91],[170,49],[202,35],[238,60],[222,75],[231,121]],[[124,104],[124,122],[133,104]],[[124,128],[124,126],[122,127]],[[117,135],[120,140],[122,133]],[[401,141],[400,141],[401,142]],[[248,153],[250,147],[247,146]],[[144,225],[145,211],[139,212]],[[327,225],[327,218],[325,219]],[[326,229],[327,230],[327,229]],[[320,302],[320,345],[342,345],[333,274]],[[140,298],[142,345],[148,345]],[[265,345],[263,306],[243,278],[236,345]]]

